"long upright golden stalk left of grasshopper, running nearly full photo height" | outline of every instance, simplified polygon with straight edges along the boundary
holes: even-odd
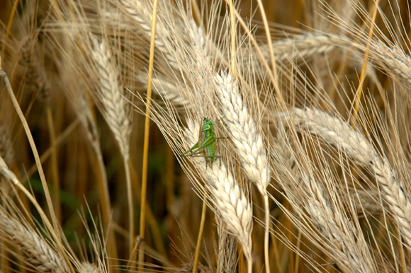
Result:
[[[142,154],[142,181],[141,181],[141,207],[140,207],[140,239],[144,242],[145,238],[145,205],[147,199],[147,167],[148,167],[148,140],[150,136],[150,108],[152,96],[152,71],[154,64],[154,42],[156,35],[157,21],[157,4],[158,0],[154,0],[152,8],[152,25],[151,25],[151,40],[150,40],[150,59],[148,66],[148,82],[147,82],[147,100],[145,109],[145,132],[144,132],[144,149]],[[138,252],[138,266],[141,270],[144,269],[144,243],[140,245]]]

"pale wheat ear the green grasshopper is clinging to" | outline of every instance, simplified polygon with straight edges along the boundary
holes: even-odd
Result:
[[[187,121],[186,141],[190,146],[198,141],[200,124],[192,120]],[[196,168],[205,180],[210,191],[215,211],[223,219],[225,226],[244,248],[247,259],[252,255],[252,207],[235,177],[223,162],[218,160],[207,166],[205,158],[192,157]]]

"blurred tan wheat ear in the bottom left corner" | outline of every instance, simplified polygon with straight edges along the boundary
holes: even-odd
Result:
[[[8,214],[0,207],[0,230],[16,246],[28,255],[28,262],[41,272],[68,273],[69,267],[64,258],[57,255],[50,245],[32,228],[23,225],[21,221]]]

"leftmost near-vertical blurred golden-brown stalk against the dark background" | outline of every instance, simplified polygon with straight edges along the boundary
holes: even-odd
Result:
[[[50,148],[51,148],[51,171],[52,171],[52,185],[54,187],[54,201],[56,209],[56,217],[59,223],[62,223],[62,207],[60,202],[60,178],[59,178],[59,168],[57,163],[57,146],[56,146],[56,134],[55,125],[52,117],[52,110],[50,104],[47,104],[47,124],[48,132],[50,137]],[[41,158],[40,158],[41,159]]]

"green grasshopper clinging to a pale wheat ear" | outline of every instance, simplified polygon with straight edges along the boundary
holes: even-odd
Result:
[[[225,139],[225,137],[215,137],[213,127],[218,122],[220,122],[220,120],[213,123],[210,122],[207,117],[204,117],[203,126],[201,127],[201,132],[198,136],[198,142],[188,151],[181,153],[180,156],[198,156],[209,158],[211,164],[213,164],[215,158],[220,158],[220,156],[215,155],[215,139]],[[207,154],[200,155],[199,153],[201,153],[201,149],[205,149]]]

